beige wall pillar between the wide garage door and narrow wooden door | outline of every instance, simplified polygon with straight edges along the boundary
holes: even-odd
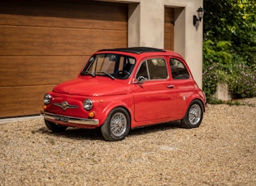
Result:
[[[162,1],[142,0],[128,6],[128,47],[163,49],[164,6]]]

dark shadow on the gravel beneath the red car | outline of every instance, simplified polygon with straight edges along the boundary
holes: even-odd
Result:
[[[141,136],[147,133],[155,133],[158,131],[165,131],[169,129],[180,128],[180,122],[167,122],[158,125],[150,125],[141,128],[131,129],[128,133],[128,136]],[[51,132],[47,127],[41,127],[34,131],[34,133],[46,134],[49,136],[55,137],[65,137],[75,140],[104,140],[102,137],[101,129],[76,129],[76,128],[67,128],[63,132],[54,133]]]

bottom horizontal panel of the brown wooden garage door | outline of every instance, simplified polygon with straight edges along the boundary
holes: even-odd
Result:
[[[43,95],[53,87],[0,87],[0,118],[38,114],[43,105]]]

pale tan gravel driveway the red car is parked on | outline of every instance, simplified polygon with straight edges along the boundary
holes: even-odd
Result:
[[[256,99],[105,142],[100,130],[50,133],[41,117],[0,120],[0,185],[256,185]]]

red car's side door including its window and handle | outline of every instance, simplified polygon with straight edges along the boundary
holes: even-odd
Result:
[[[145,82],[134,84],[135,120],[158,120],[169,118],[175,103],[172,93],[167,62],[163,57],[154,57],[141,62],[136,78],[144,77]]]

